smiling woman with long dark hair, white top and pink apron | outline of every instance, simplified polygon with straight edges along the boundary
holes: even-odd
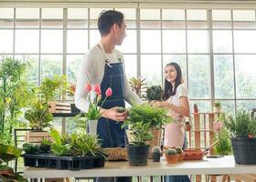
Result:
[[[172,62],[165,66],[165,91],[163,102],[153,102],[153,106],[170,110],[175,122],[165,126],[164,146],[186,147],[185,116],[189,116],[187,86],[182,79],[181,68]],[[188,176],[167,176],[165,182],[187,182]]]

